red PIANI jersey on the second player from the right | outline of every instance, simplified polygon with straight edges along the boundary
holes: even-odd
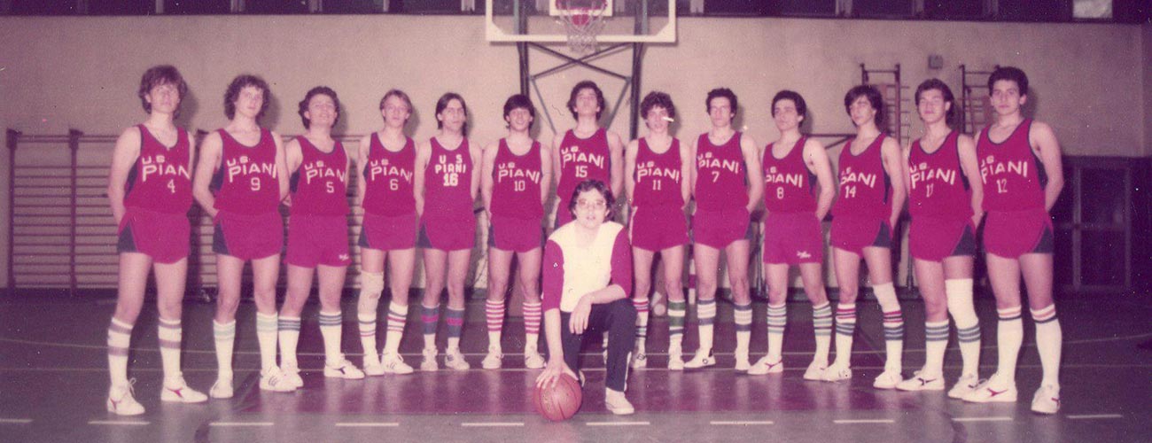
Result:
[[[960,167],[960,132],[952,131],[933,153],[924,152],[920,140],[912,142],[908,154],[908,213],[941,219],[970,219],[972,194]]]

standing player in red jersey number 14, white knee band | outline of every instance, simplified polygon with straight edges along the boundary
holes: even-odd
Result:
[[[904,320],[892,284],[893,227],[904,206],[903,159],[900,143],[884,133],[884,98],[871,85],[848,90],[844,109],[856,125],[856,137],[840,153],[840,192],[832,208],[832,260],[836,267],[840,303],[836,305],[836,360],[824,373],[826,381],[852,377],[852,334],[859,295],[861,259],[884,312],[887,361],[872,387],[893,389],[900,375]]]

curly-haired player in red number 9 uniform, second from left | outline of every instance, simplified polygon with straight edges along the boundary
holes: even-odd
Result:
[[[256,337],[260,345],[260,389],[291,391],[276,366],[276,278],[283,249],[283,220],[278,211],[288,194],[283,140],[259,127],[268,107],[268,84],[241,75],[225,92],[228,125],[204,138],[192,194],[212,220],[212,251],[217,254],[218,298],[212,323],[217,381],[212,398],[232,398],[232,350],[236,337],[244,263],[252,262]]]

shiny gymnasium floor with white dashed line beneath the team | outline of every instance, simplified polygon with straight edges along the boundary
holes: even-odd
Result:
[[[924,359],[923,307],[904,300],[905,376]],[[1055,417],[1029,411],[1040,379],[1025,324],[1016,404],[972,405],[943,392],[878,391],[871,381],[884,366],[880,312],[863,303],[851,382],[806,382],[801,375],[814,347],[811,310],[789,304],[786,372],[749,376],[732,369],[730,305],[720,304],[715,368],[673,373],[667,321],[650,326],[650,368],[635,371],[628,396],[637,413],[615,417],[604,408],[599,341],[585,349],[590,385],[571,420],[551,423],[532,411],[536,371],[522,366],[522,322],[505,326],[505,368],[479,369],[486,349],[483,300],[469,306],[463,347],[473,369],[326,380],[316,305],[305,310],[301,336],[304,388],[268,394],[257,388],[255,306],[241,305],[236,344],[236,396],[199,405],[161,404],[156,311],[145,308],[132,341],[130,376],[144,415],[121,418],[104,410],[107,392],[105,338],[111,298],[0,298],[0,441],[2,442],[497,442],[497,441],[781,441],[781,442],[1146,442],[1152,438],[1152,300],[1146,296],[1079,296],[1058,301],[1064,334],[1061,374],[1063,410]],[[756,304],[752,359],[766,349],[764,303]],[[211,339],[213,306],[185,304],[184,374],[207,390],[215,377]],[[980,373],[994,371],[994,308],[977,305],[984,324]],[[691,311],[691,310],[690,310]],[[344,306],[344,349],[358,350],[355,304]],[[401,346],[419,362],[418,310],[411,310]],[[1025,323],[1030,323],[1025,320]],[[384,328],[380,328],[381,335]],[[689,319],[685,350],[694,350]],[[955,337],[953,337],[953,344]],[[350,352],[351,353],[351,352]],[[359,356],[349,359],[361,364]],[[960,356],[949,350],[948,385]]]

